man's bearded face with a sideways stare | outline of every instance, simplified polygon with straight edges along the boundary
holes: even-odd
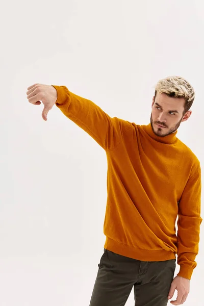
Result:
[[[188,111],[183,115],[184,105],[184,98],[168,97],[165,93],[157,93],[156,98],[153,97],[150,122],[157,136],[164,137],[174,133],[181,122],[188,120],[192,112]]]

